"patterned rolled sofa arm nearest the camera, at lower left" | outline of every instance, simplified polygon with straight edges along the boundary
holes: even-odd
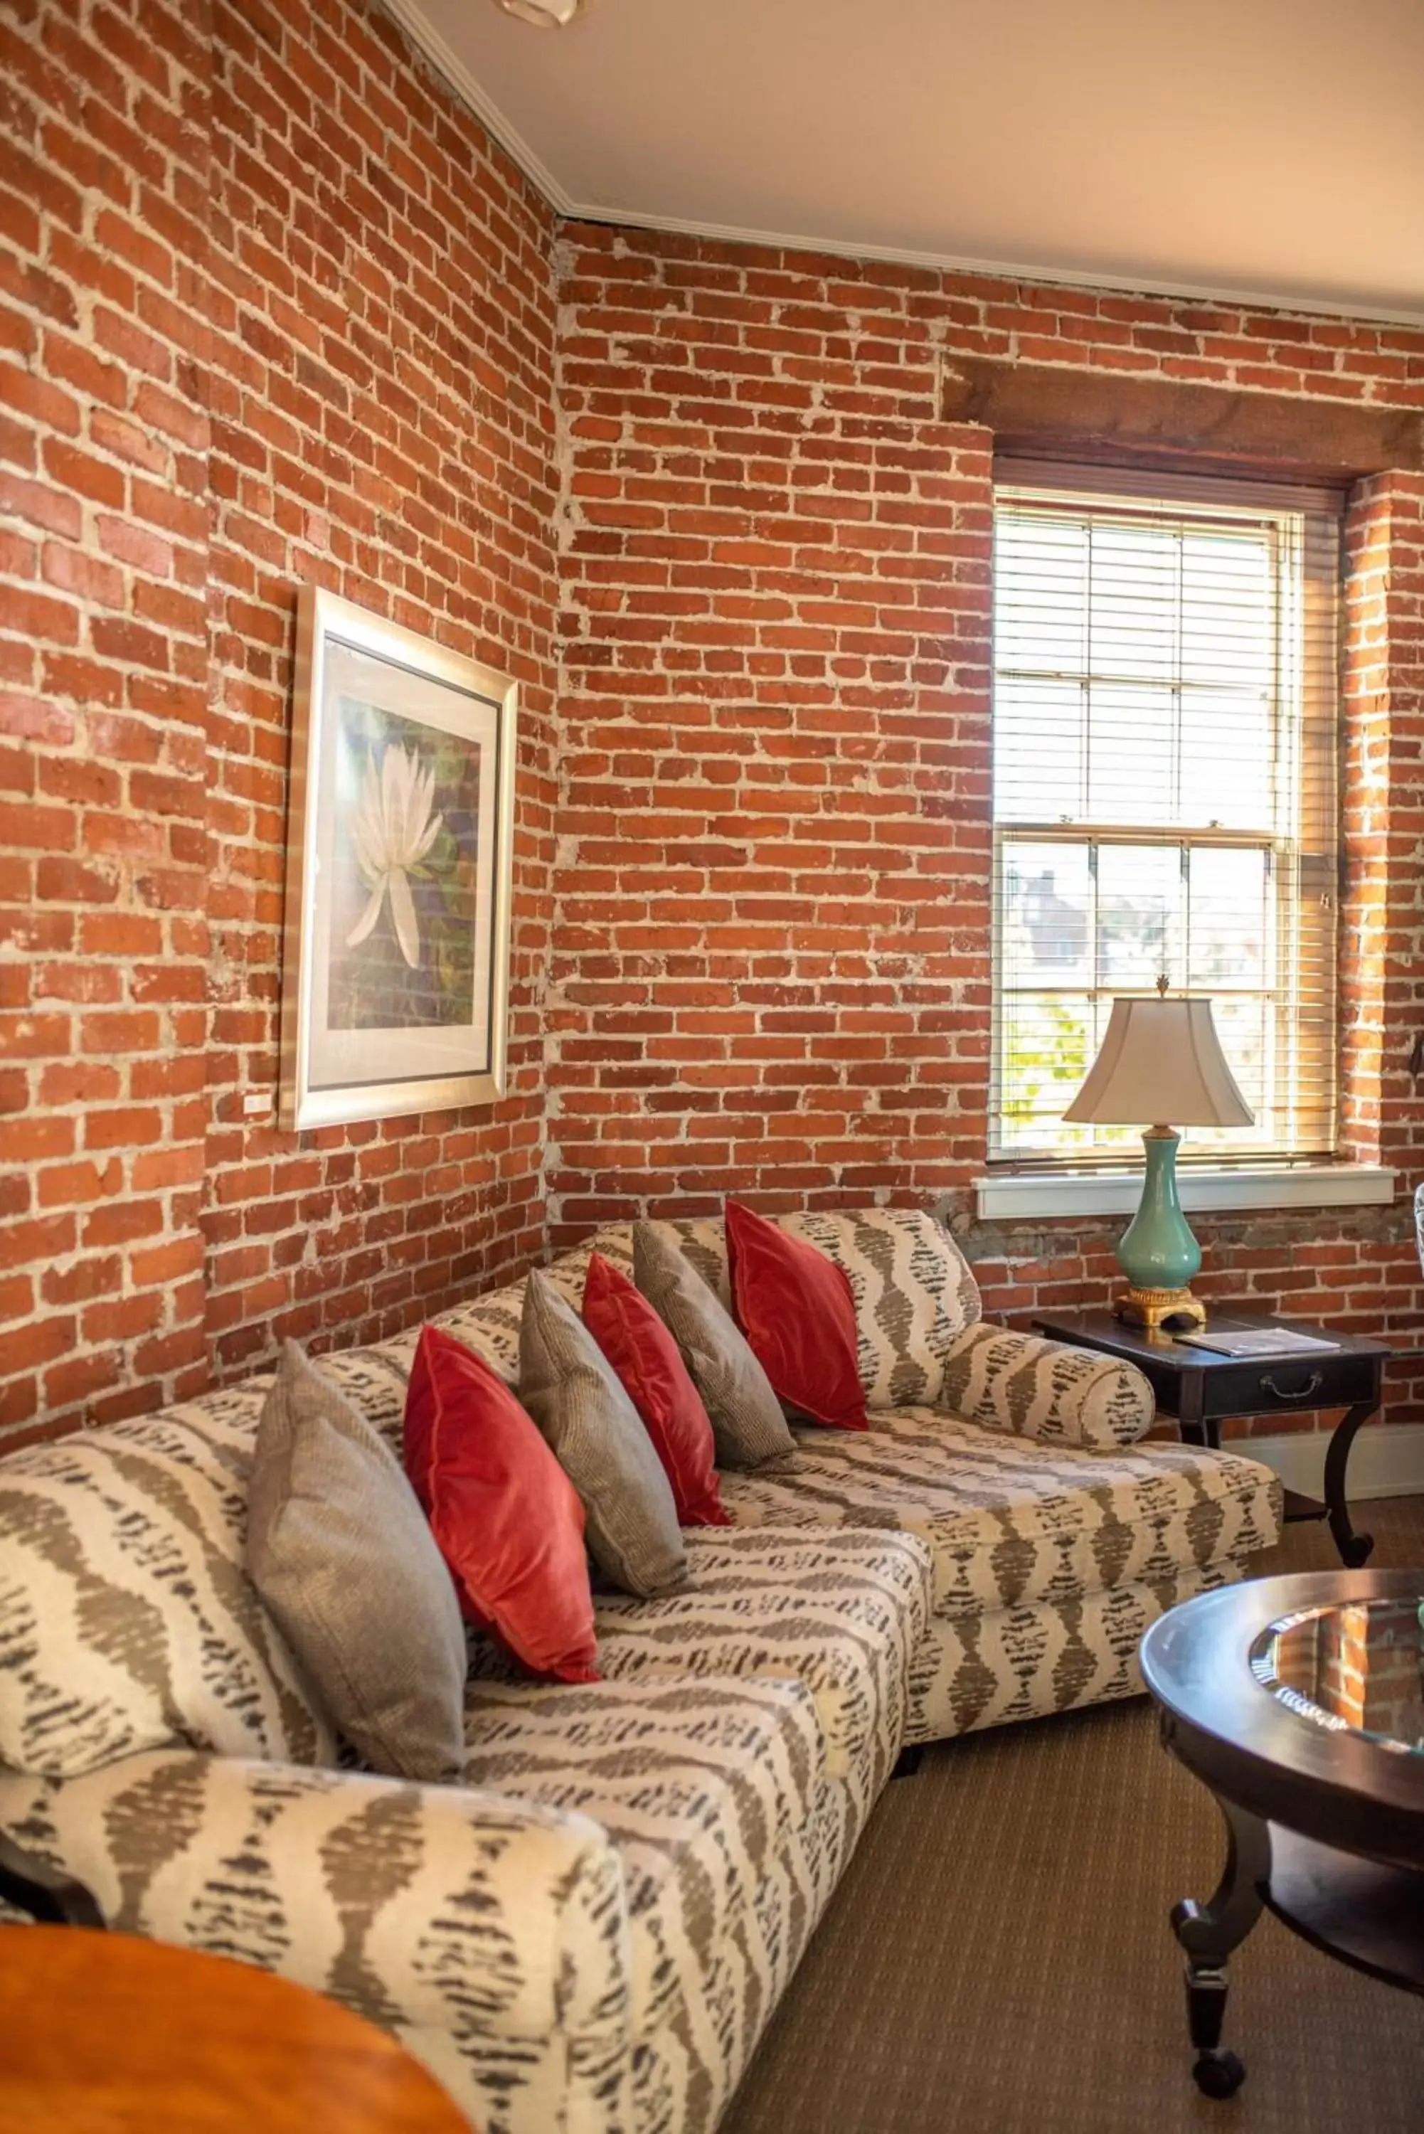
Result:
[[[623,1872],[587,1816],[156,1750],[83,1778],[4,1775],[0,1825],[77,1876],[109,1927],[282,1972],[427,2040],[444,2079],[480,2038],[564,2034],[585,2061],[628,2049]]]

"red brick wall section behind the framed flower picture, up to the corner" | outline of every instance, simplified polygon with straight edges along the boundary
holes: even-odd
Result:
[[[553,218],[376,6],[216,6],[209,1336],[378,1338],[542,1251]],[[305,1133],[278,1067],[295,589],[521,683],[510,1093]]]

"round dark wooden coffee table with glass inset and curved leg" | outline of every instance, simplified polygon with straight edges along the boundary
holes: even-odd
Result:
[[[1262,1908],[1315,1948],[1424,1993],[1424,1573],[1251,1579],[1183,1600],[1142,1639],[1161,1739],[1217,1797],[1228,1854],[1172,1912],[1196,2081],[1221,2051],[1225,1963]]]

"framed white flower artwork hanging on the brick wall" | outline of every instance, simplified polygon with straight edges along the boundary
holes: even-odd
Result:
[[[504,1093],[517,685],[303,589],[286,828],[288,1131]]]

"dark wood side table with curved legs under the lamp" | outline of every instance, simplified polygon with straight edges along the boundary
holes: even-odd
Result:
[[[1076,1349],[1099,1349],[1125,1364],[1136,1364],[1146,1376],[1161,1415],[1176,1419],[1185,1443],[1221,1449],[1221,1423],[1238,1415],[1300,1415],[1313,1408],[1345,1408],[1326,1447],[1326,1502],[1285,1492],[1287,1519],[1330,1519],[1330,1534],[1341,1562],[1356,1571],[1368,1562],[1375,1547],[1368,1534],[1356,1534],[1345,1498],[1349,1447],[1375,1415],[1379,1415],[1383,1368],[1392,1351],[1386,1342],[1360,1340],[1354,1334],[1332,1334],[1294,1319],[1262,1319],[1247,1312],[1213,1312],[1219,1334],[1253,1334],[1287,1327],[1292,1334],[1315,1334],[1328,1349],[1307,1349],[1298,1355],[1251,1357],[1215,1355],[1193,1349],[1174,1334],[1129,1327],[1112,1312],[1042,1312],[1033,1327],[1050,1340]],[[1249,1445],[1247,1445],[1249,1449]]]

